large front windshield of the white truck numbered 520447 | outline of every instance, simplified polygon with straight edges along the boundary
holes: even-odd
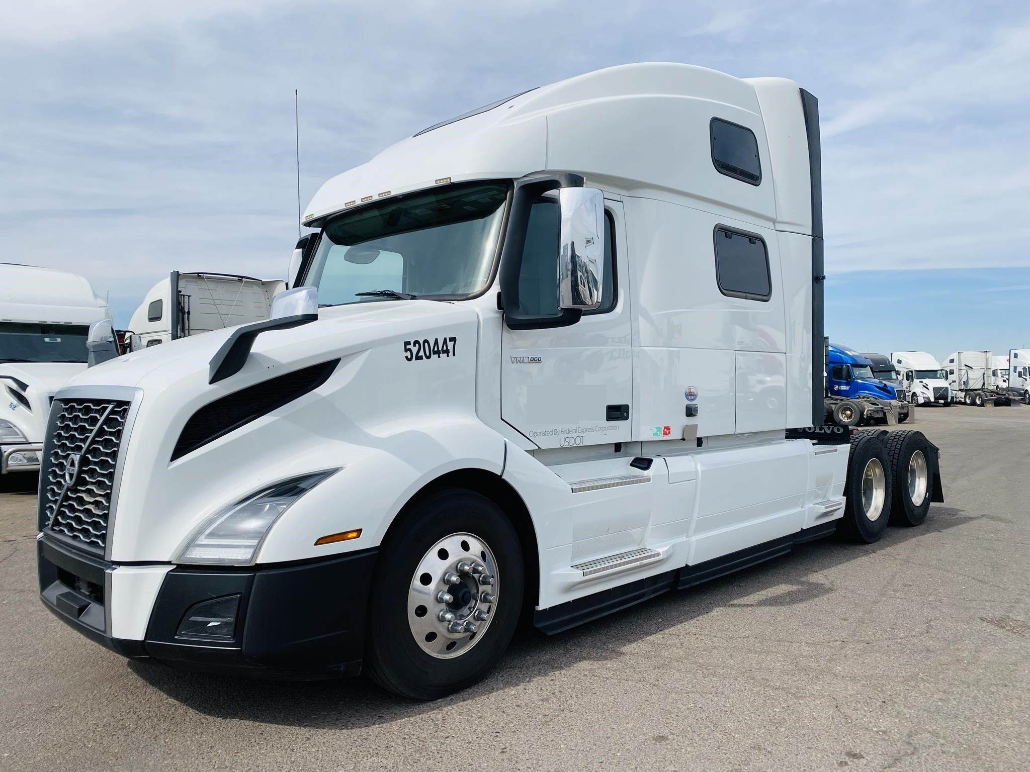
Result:
[[[461,300],[486,288],[506,182],[447,185],[331,219],[304,281],[321,306],[415,297]],[[359,292],[390,290],[373,296]]]

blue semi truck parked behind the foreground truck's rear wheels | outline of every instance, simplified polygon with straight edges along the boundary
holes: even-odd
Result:
[[[872,373],[872,362],[847,346],[826,346],[826,423],[859,426],[904,423],[908,395],[898,383]]]

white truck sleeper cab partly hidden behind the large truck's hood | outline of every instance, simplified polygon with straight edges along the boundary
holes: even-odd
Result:
[[[281,279],[172,271],[154,284],[132,315],[129,330],[144,347],[268,319]]]

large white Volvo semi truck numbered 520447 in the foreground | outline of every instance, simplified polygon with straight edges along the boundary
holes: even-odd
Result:
[[[523,612],[921,523],[920,432],[813,427],[818,126],[790,80],[630,65],[331,179],[272,319],[58,394],[43,602],[127,657],[432,699]]]

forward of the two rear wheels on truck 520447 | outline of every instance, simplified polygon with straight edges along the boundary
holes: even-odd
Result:
[[[890,519],[893,476],[887,450],[878,434],[857,436],[848,457],[844,518],[837,531],[852,541],[878,540]]]

